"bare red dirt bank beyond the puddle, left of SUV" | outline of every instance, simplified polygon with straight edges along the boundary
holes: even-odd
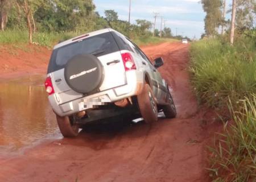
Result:
[[[40,46],[1,46],[0,78],[45,74],[51,50]]]

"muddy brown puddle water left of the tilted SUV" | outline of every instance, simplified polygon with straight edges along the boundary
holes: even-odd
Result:
[[[0,82],[1,153],[60,136],[42,83],[42,77]]]

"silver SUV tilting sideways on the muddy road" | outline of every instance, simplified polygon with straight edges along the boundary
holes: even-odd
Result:
[[[76,137],[86,123],[113,117],[146,123],[176,109],[167,82],[131,40],[106,28],[57,44],[45,82],[48,99],[64,137]]]

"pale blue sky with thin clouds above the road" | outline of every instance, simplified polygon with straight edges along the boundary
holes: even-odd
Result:
[[[204,17],[200,0],[131,0],[131,23],[136,19],[146,19],[154,23],[154,13],[159,13],[170,27],[172,34],[197,39],[204,33]],[[231,0],[228,0],[228,3]],[[115,10],[118,18],[129,17],[129,0],[94,0],[96,11],[101,16],[105,10]],[[160,30],[161,18],[156,19],[156,28]],[[164,23],[163,23],[164,24]],[[177,28],[177,29],[176,29]]]

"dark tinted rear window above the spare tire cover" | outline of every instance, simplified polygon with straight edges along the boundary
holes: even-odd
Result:
[[[53,50],[48,67],[48,73],[64,68],[68,60],[79,54],[103,56],[119,51],[117,43],[110,32],[79,40]]]

